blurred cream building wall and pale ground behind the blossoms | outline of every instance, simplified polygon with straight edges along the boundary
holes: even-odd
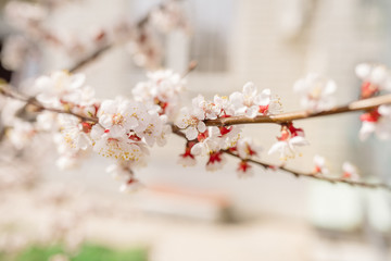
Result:
[[[85,37],[119,17],[138,21],[160,2],[70,0],[50,13],[47,25],[59,34]],[[161,41],[164,66],[185,72],[190,61],[198,62],[187,77],[184,103],[198,94],[229,95],[251,80],[258,88],[270,88],[283,111],[299,110],[292,85],[314,72],[336,80],[338,103],[344,104],[360,95],[357,63],[391,63],[388,0],[182,0],[180,4],[190,33],[174,30],[161,36]],[[1,38],[12,33],[2,20]],[[37,48],[12,77],[7,72],[2,77],[21,84],[74,63],[56,48]],[[126,46],[110,50],[83,72],[102,98],[130,96],[135,85],[146,79],[146,70],[135,64]],[[358,114],[297,125],[305,129],[311,146],[288,166],[311,171],[318,153],[328,159],[333,173],[340,173],[349,160],[363,177],[391,182],[390,144],[376,138],[361,142]],[[247,126],[244,133],[264,148],[262,159],[278,163],[277,157],[266,153],[278,130],[278,126],[258,125]],[[97,156],[80,169],[59,171],[55,154],[45,153],[45,164],[34,170],[41,176],[38,188],[0,192],[2,245],[18,246],[23,235],[40,237],[39,227],[66,210],[79,221],[67,224],[76,234],[83,231],[84,240],[143,249],[148,254],[141,258],[148,260],[391,260],[389,192],[261,167],[254,176],[239,178],[235,160],[214,173],[206,172],[202,162],[184,169],[176,164],[182,149],[184,141],[171,137],[167,146],[151,150],[148,166],[137,172],[146,189],[133,195],[117,192],[118,184],[104,171],[110,160]],[[8,171],[1,167],[0,172]],[[59,211],[48,210],[45,203],[36,203],[47,198],[42,194],[66,195],[67,201],[55,203]],[[11,237],[11,232],[21,238]]]

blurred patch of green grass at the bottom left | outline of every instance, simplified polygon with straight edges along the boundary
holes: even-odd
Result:
[[[60,246],[31,246],[22,251],[14,261],[47,261],[56,253],[63,253]],[[99,245],[84,245],[79,253],[72,261],[147,261],[148,251],[143,248],[129,250],[113,250]],[[0,254],[1,257],[1,254]],[[3,259],[1,259],[3,260]],[[5,260],[5,259],[4,259]]]

